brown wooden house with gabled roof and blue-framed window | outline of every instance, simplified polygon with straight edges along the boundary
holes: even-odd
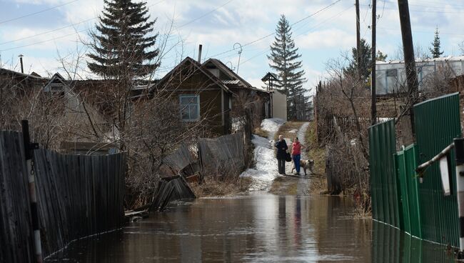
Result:
[[[241,109],[251,109],[259,121],[270,115],[269,92],[251,86],[218,59],[201,64],[187,57],[151,88],[151,94],[171,96],[183,121],[202,121],[218,135],[232,132]]]

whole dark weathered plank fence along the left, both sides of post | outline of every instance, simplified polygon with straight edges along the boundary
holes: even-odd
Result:
[[[31,216],[24,147],[18,132],[0,132],[0,262],[30,262]],[[34,151],[44,257],[70,242],[123,226],[126,155]]]

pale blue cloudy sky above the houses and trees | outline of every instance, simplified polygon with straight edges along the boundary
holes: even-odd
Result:
[[[186,56],[197,59],[202,44],[203,61],[221,59],[261,87],[261,78],[271,71],[266,55],[284,14],[292,24],[309,91],[328,76],[328,61],[346,57],[356,41],[354,0],[147,0],[146,6],[151,19],[157,19],[153,33],[158,32],[158,44],[164,46],[157,77]],[[369,44],[371,6],[372,1],[360,0],[360,35]],[[400,59],[398,2],[377,1],[376,6],[377,49],[388,59]],[[428,53],[438,28],[443,56],[463,54],[463,1],[410,0],[409,6],[416,49]],[[103,0],[0,0],[1,66],[20,71],[22,54],[25,73],[93,77],[86,69],[85,43],[103,7]]]

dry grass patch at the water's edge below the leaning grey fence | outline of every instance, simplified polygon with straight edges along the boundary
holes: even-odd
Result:
[[[226,197],[246,192],[251,184],[248,177],[204,177],[201,184],[191,184],[196,197]]]

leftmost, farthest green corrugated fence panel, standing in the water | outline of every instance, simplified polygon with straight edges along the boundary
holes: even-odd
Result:
[[[370,193],[373,219],[400,227],[399,183],[395,173],[395,121],[369,127]]]

